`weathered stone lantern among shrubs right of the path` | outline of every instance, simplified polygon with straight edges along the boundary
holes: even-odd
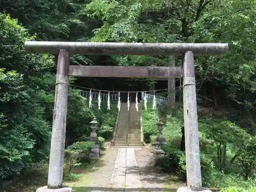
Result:
[[[158,123],[158,135],[155,141],[152,142],[153,145],[153,153],[157,156],[164,156],[164,151],[162,148],[167,144],[166,138],[164,137],[162,131],[163,131],[163,122]]]

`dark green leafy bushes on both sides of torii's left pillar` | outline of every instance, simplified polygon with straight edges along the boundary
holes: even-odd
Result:
[[[35,36],[30,36],[28,30],[7,14],[0,13],[0,26],[0,35],[4,37],[0,40],[3,53],[0,56],[2,182],[27,172],[32,164],[44,162],[49,156],[55,75],[51,73],[53,56],[25,52],[25,41]],[[70,78],[71,83],[74,80]],[[87,99],[81,97],[78,90],[70,89],[68,99],[66,145],[79,137],[88,137],[90,121],[97,114],[88,108]],[[112,126],[115,115],[112,111],[109,114],[111,118],[106,115],[104,122]]]

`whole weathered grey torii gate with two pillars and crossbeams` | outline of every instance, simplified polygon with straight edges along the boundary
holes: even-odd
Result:
[[[28,53],[58,54],[48,185],[37,192],[71,192],[62,186],[69,76],[83,77],[183,77],[187,187],[179,192],[209,191],[202,188],[194,54],[225,54],[228,44],[143,44],[123,42],[26,41]],[[70,54],[82,55],[181,55],[181,67],[70,66]]]

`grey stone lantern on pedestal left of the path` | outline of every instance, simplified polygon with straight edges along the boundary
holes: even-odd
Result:
[[[99,140],[96,133],[98,122],[96,121],[96,118],[94,118],[90,123],[91,123],[91,129],[92,129],[92,132],[90,134],[90,141],[94,142],[94,147],[92,148],[89,156],[90,158],[98,158],[100,154],[100,145],[99,145]]]

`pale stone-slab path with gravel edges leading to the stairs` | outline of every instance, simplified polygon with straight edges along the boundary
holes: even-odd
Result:
[[[99,168],[90,170],[79,184],[68,185],[73,185],[73,192],[176,191],[165,188],[168,177],[154,167],[154,155],[146,147],[106,148]]]

